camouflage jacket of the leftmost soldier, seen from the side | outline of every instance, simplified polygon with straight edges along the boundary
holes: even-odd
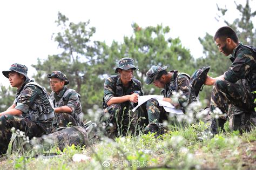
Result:
[[[55,117],[48,94],[33,80],[26,80],[21,89],[17,90],[14,103],[15,108],[22,111],[22,116],[32,121],[50,123]]]

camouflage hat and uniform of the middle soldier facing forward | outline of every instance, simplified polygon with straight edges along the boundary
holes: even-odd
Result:
[[[123,70],[129,70],[131,68],[137,69],[131,58],[120,59],[116,72],[118,71],[118,68]],[[111,138],[117,137],[118,135],[126,135],[129,131],[134,133],[137,125],[143,126],[145,123],[145,121],[142,120],[142,117],[145,117],[143,108],[139,107],[133,113],[131,110],[133,107],[136,107],[137,104],[131,103],[131,101],[107,106],[107,102],[112,97],[122,97],[132,93],[138,93],[139,96],[143,96],[142,83],[135,78],[132,78],[129,87],[123,86],[119,74],[110,76],[105,80],[103,97],[104,110],[100,117],[100,122],[105,125],[105,129],[108,133],[107,135]]]

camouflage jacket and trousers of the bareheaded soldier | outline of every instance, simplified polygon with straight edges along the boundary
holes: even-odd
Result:
[[[254,111],[255,104],[253,101],[255,96],[253,96],[252,91],[256,89],[255,57],[256,52],[253,52],[249,47],[242,44],[235,47],[230,58],[232,66],[224,73],[225,80],[218,80],[213,86],[211,113],[218,107],[221,112],[227,114],[229,108],[233,107],[230,105],[238,107],[239,110],[244,109],[245,112],[249,112],[248,114]],[[232,114],[228,113],[228,117],[233,117]],[[217,127],[223,128],[226,120],[226,116],[213,119],[212,132],[217,133]],[[255,118],[252,120],[255,125]]]

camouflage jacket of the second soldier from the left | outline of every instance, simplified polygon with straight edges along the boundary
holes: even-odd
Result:
[[[78,120],[78,115],[82,113],[80,94],[78,94],[75,90],[64,86],[59,94],[51,92],[50,97],[55,107],[69,106],[72,109],[71,115],[73,118]]]

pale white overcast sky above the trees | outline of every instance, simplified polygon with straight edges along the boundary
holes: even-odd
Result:
[[[236,2],[245,4],[246,1]],[[31,64],[36,64],[37,58],[46,59],[48,55],[58,54],[60,49],[51,39],[52,33],[57,32],[58,11],[74,23],[90,19],[89,26],[96,27],[92,40],[105,41],[108,45],[113,40],[123,42],[124,36],[131,36],[134,22],[140,27],[169,26],[170,37],[179,37],[181,44],[198,58],[203,56],[198,37],[203,38],[206,32],[214,35],[218,28],[225,26],[222,20],[217,22],[215,19],[216,4],[221,8],[226,5],[228,21],[233,22],[239,17],[234,1],[223,0],[1,1],[0,70],[9,70],[11,64],[20,63],[28,66],[31,77],[36,73]],[[250,4],[256,6],[256,1],[250,0]],[[0,84],[9,85],[3,75]]]

